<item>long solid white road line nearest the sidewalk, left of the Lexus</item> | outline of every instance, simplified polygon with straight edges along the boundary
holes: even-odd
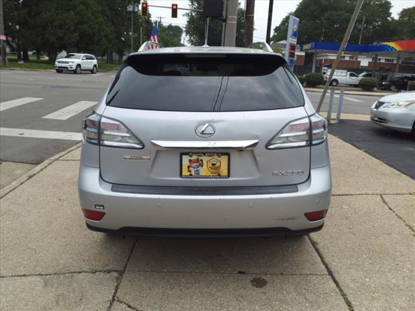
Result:
[[[12,137],[62,139],[62,140],[68,140],[68,141],[81,141],[82,140],[81,133],[42,131],[42,130],[30,130],[30,129],[10,129],[7,127],[0,127],[0,135],[1,136],[12,136]]]

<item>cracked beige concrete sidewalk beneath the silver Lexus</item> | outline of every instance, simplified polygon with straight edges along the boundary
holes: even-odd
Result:
[[[1,309],[415,309],[415,181],[333,136],[330,154],[322,231],[166,239],[88,231],[71,151],[1,199]]]

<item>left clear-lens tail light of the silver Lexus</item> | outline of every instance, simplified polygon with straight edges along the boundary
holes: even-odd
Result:
[[[93,113],[83,121],[83,138],[88,143],[100,146],[142,149],[144,143],[139,140],[120,121],[102,117]]]

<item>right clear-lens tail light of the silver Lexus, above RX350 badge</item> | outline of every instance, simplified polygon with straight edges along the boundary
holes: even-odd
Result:
[[[266,144],[267,149],[315,146],[327,138],[327,122],[318,114],[288,123]]]

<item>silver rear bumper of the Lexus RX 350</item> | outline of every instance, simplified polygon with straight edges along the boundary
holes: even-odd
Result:
[[[153,236],[183,236],[178,234],[180,231],[188,231],[185,236],[198,236],[203,231],[232,236],[240,230],[247,233],[238,236],[270,236],[319,230],[324,219],[311,222],[304,213],[327,209],[332,189],[329,166],[311,169],[310,177],[297,185],[297,191],[277,194],[140,194],[115,192],[112,186],[102,180],[99,168],[80,166],[81,207],[92,210],[94,204],[105,207],[101,221],[85,219],[89,228]],[[298,232],[293,234],[303,234]]]

